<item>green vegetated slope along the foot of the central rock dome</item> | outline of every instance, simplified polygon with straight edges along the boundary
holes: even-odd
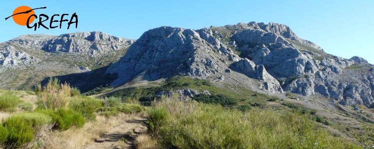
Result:
[[[239,107],[242,105],[261,106],[266,104],[266,101],[272,98],[268,95],[258,93],[243,87],[217,87],[211,84],[208,80],[183,76],[174,76],[168,78],[165,80],[165,82],[160,84],[160,86],[124,88],[115,92],[105,94],[104,96],[121,97],[122,100],[126,102],[140,102],[143,105],[149,106],[153,100],[160,98],[156,96],[156,94],[160,91],[173,91],[186,88],[198,91],[207,90],[211,94],[211,96],[207,97],[211,99],[207,99],[204,95],[201,95],[204,97],[196,97],[196,100],[204,102],[208,102],[208,100],[210,100],[210,102],[213,102],[213,100],[217,100],[214,101],[216,103],[221,102],[218,100],[224,100],[225,102],[229,103],[223,103],[224,106],[229,107]]]

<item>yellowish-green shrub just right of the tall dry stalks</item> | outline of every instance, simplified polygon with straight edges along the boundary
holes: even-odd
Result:
[[[102,106],[103,104],[100,100],[89,97],[71,99],[69,103],[70,109],[82,114],[86,120],[95,120],[96,109]]]

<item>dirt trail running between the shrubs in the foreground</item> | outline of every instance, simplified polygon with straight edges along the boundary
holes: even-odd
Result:
[[[114,127],[85,149],[135,149],[136,136],[147,131],[145,121],[146,119],[134,119]]]

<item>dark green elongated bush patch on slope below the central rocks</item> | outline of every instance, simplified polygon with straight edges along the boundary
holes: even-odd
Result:
[[[206,94],[199,94],[195,97],[192,97],[193,100],[203,103],[214,103],[220,104],[222,106],[227,105],[235,105],[237,104],[237,100],[230,98],[226,95],[206,95]]]

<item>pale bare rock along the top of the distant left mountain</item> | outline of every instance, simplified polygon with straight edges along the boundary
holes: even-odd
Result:
[[[0,45],[0,72],[8,68],[35,65],[40,60],[29,53],[38,50],[100,57],[111,51],[124,50],[134,41],[103,32],[78,32],[60,36],[23,35]]]

